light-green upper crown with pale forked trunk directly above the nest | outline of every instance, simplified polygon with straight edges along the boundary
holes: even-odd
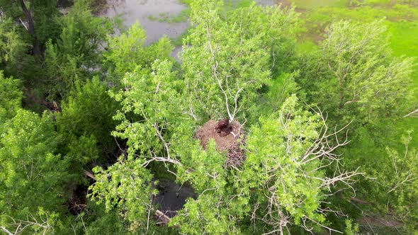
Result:
[[[181,56],[190,113],[203,120],[244,117],[257,91],[271,81],[272,67],[283,69],[274,63],[283,65],[279,56],[288,49],[280,42],[295,27],[295,13],[253,4],[224,16],[222,1],[195,1],[191,8],[195,27]]]

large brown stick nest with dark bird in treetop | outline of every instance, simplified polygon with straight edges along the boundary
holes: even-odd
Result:
[[[239,166],[244,163],[244,149],[240,147],[244,144],[244,132],[239,122],[210,120],[196,131],[195,138],[200,140],[203,149],[206,149],[210,139],[214,139],[219,151],[227,151],[226,166]]]

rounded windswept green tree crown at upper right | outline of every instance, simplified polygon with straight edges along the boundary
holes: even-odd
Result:
[[[298,82],[330,120],[358,127],[399,117],[410,105],[413,59],[392,56],[385,30],[381,21],[333,23],[318,54],[302,64]]]

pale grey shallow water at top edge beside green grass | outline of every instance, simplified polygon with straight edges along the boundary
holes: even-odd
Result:
[[[149,16],[159,18],[160,14],[176,16],[186,6],[180,4],[178,0],[108,0],[108,10],[104,16],[119,16],[123,20],[123,25],[129,28],[135,22],[139,22],[147,33],[145,44],[149,45],[156,42],[163,35],[169,38],[178,38],[189,23],[164,23],[151,21]]]

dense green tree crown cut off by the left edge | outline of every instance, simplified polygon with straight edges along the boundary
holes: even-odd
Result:
[[[49,115],[18,110],[0,137],[0,211],[26,219],[38,207],[62,210],[69,161],[55,154],[59,141]]]

